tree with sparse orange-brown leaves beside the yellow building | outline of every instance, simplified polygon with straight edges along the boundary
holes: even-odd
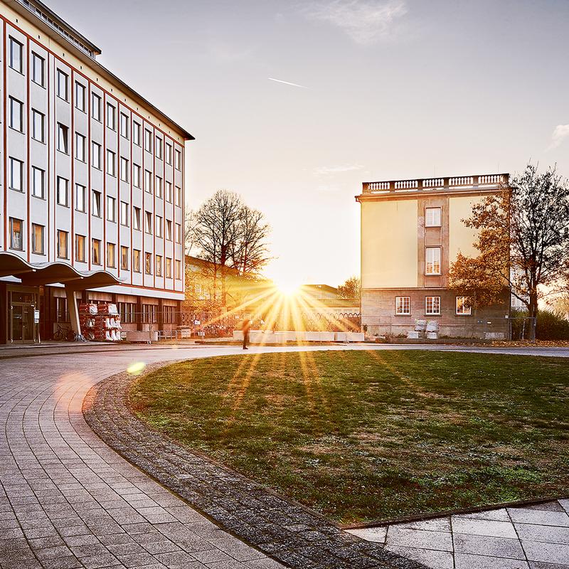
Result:
[[[528,164],[499,194],[475,204],[463,221],[478,230],[474,246],[480,254],[459,254],[452,263],[450,287],[459,294],[489,306],[510,289],[534,318],[541,298],[567,290],[569,184],[555,168],[540,173]]]

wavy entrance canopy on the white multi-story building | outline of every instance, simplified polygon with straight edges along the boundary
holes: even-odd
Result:
[[[16,277],[28,287],[60,282],[70,290],[110,287],[122,282],[108,271],[80,271],[65,262],[31,263],[9,251],[0,252],[0,277]]]

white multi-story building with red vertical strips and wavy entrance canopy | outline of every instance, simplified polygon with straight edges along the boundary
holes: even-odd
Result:
[[[0,18],[0,342],[75,328],[87,300],[127,329],[173,325],[193,137],[41,2],[0,0]]]

